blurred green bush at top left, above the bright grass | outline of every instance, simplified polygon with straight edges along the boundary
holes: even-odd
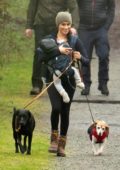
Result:
[[[30,46],[24,36],[27,2],[27,0],[0,1],[1,66],[13,57],[23,57],[28,45]]]

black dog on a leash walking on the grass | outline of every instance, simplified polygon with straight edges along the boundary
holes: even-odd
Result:
[[[35,128],[35,119],[29,110],[14,108],[14,114],[12,119],[13,137],[15,139],[15,152],[21,153],[27,151],[27,154],[31,154],[31,143],[33,130]],[[22,145],[22,135],[24,136],[24,142]],[[28,137],[28,147],[26,140]]]

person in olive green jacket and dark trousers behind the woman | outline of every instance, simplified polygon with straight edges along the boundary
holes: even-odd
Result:
[[[69,10],[72,14],[73,26],[78,27],[78,8],[76,0],[30,0],[27,10],[27,23],[25,34],[27,37],[31,37],[33,30],[35,33],[35,50],[38,47],[40,39],[45,35],[55,31],[54,19],[59,11]],[[76,17],[77,15],[77,17]],[[76,33],[76,30],[72,28],[72,32]],[[43,81],[41,77],[45,77],[46,66],[41,64],[38,56],[34,54],[33,59],[33,71],[32,71],[32,90],[31,95],[37,95],[43,88]]]

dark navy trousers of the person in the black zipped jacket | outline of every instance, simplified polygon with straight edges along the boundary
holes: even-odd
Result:
[[[82,67],[83,81],[85,85],[90,86],[92,83],[90,65],[94,47],[99,59],[98,82],[99,85],[102,85],[103,83],[106,84],[109,80],[108,71],[110,50],[107,30],[104,28],[97,30],[79,30],[79,37],[82,40],[90,59],[90,64]]]

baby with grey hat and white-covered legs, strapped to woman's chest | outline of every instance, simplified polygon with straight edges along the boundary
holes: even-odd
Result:
[[[49,63],[49,66],[51,66],[53,69],[54,86],[57,89],[58,93],[62,96],[63,101],[65,103],[69,103],[70,98],[62,86],[61,78],[59,78],[59,76],[62,74],[62,72],[64,72],[64,74],[66,74],[66,77],[71,76],[71,75],[74,76],[76,86],[81,89],[84,89],[84,83],[81,81],[81,77],[80,77],[78,70],[74,66],[70,65],[70,63],[72,61],[72,48],[71,48],[71,55],[61,54],[61,55],[55,56],[54,58],[50,57],[50,56],[52,56],[51,54],[54,51],[54,49],[56,47],[58,48],[58,46],[70,48],[69,44],[65,41],[57,41],[57,43],[56,43],[54,39],[45,38],[40,42],[40,49],[42,49],[42,51],[45,53],[45,55],[41,55],[42,53],[41,53],[40,49],[38,50],[37,55],[43,61],[45,60],[45,58],[47,59],[48,63],[49,63],[49,61],[51,61]],[[45,81],[44,79],[45,78],[43,77],[42,78],[43,82]]]

